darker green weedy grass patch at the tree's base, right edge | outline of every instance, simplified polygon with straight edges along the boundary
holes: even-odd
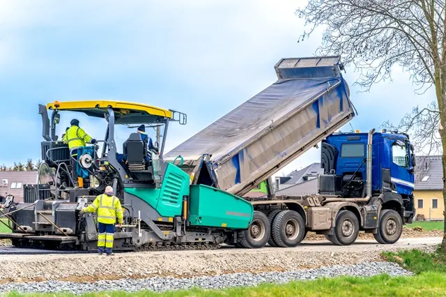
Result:
[[[437,250],[433,253],[420,250],[384,252],[387,261],[395,262],[413,273],[444,273],[446,275],[446,253]]]

